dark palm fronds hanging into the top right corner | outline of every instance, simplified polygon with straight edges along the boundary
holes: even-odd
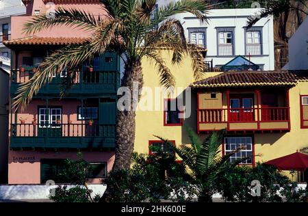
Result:
[[[248,18],[247,27],[250,28],[261,18],[267,16],[281,16],[289,14],[292,11],[303,12],[308,15],[308,4],[307,0],[278,0],[268,1],[265,7],[257,12],[254,16]]]

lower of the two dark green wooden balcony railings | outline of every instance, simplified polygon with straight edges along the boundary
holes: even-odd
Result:
[[[87,148],[115,147],[115,124],[12,124],[10,148]]]

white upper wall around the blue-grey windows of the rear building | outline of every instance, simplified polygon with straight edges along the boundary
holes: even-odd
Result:
[[[172,0],[161,0],[159,6],[166,5]],[[176,0],[174,0],[176,1]],[[255,9],[221,9],[210,10],[208,14],[208,23],[201,23],[190,13],[179,14],[178,18],[185,29],[185,36],[188,37],[188,28],[206,28],[206,46],[207,60],[213,59],[214,66],[221,66],[229,62],[236,55],[244,55],[248,58],[248,53],[245,53],[245,29],[247,18],[255,14]],[[234,55],[221,57],[217,51],[217,27],[234,27]],[[264,65],[264,70],[274,70],[274,27],[273,18],[262,18],[254,27],[261,27],[262,30],[262,55],[252,55],[251,61],[258,65]]]

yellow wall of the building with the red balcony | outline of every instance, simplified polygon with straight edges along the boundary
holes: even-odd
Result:
[[[168,62],[168,52],[164,51],[164,59]],[[173,75],[176,77],[176,87],[188,87],[194,81],[192,75],[191,61],[187,57],[180,66],[172,66],[168,62]],[[144,72],[144,86],[159,86],[159,77],[153,62],[144,59],[142,62]],[[208,72],[205,76],[211,77],[218,75],[219,72]],[[181,92],[173,94],[171,98],[175,98]],[[300,94],[308,94],[308,83],[300,82],[290,89],[290,116],[291,131],[289,133],[255,133],[255,161],[268,161],[277,157],[291,154],[300,148],[308,146],[308,129],[300,129]],[[225,96],[223,95],[224,104]],[[163,99],[161,98],[161,105]],[[183,121],[183,125],[191,126],[196,131],[196,92],[192,92],[192,116]],[[153,135],[175,140],[177,146],[180,144],[188,144],[189,139],[185,135],[183,126],[164,126],[164,111],[137,111],[136,112],[136,141],[135,151],[148,153],[149,140],[157,140]],[[240,133],[237,133],[237,135]],[[205,134],[201,134],[205,137]]]

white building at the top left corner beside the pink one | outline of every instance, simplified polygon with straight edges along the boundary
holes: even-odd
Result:
[[[0,67],[7,72],[10,71],[11,54],[2,41],[10,40],[11,16],[21,14],[25,14],[25,5],[21,0],[0,0]]]

